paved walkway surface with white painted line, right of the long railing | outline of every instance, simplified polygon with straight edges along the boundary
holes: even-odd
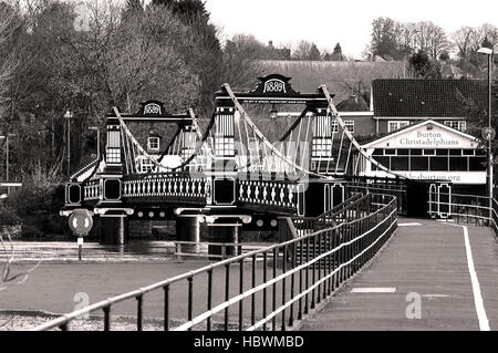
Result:
[[[419,225],[407,225],[413,222]],[[473,284],[461,227],[413,219],[400,219],[400,226],[374,262],[302,330],[479,330],[486,319],[498,330],[498,243],[491,230],[468,227],[478,280]],[[479,290],[480,309],[475,302]],[[421,295],[421,319],[406,316],[412,292]]]

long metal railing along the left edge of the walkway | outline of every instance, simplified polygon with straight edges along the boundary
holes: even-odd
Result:
[[[141,331],[144,328],[144,300],[153,291],[163,292],[164,330],[287,330],[367,263],[396,229],[396,198],[370,197],[372,204],[378,206],[369,215],[110,298],[35,330],[69,330],[72,320],[103,311],[104,330],[107,331],[112,325],[112,308],[135,301],[136,329]],[[298,249],[305,249],[299,259]],[[245,276],[248,276],[246,280]],[[180,290],[186,300],[172,303],[175,289]],[[222,299],[215,303],[217,294]],[[206,303],[196,314],[195,295]],[[178,320],[172,311],[181,303],[186,303],[186,318]]]

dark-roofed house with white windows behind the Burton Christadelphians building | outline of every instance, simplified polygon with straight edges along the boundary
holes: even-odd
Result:
[[[484,80],[374,80],[375,133],[392,133],[433,120],[465,132],[470,112],[487,110]]]

